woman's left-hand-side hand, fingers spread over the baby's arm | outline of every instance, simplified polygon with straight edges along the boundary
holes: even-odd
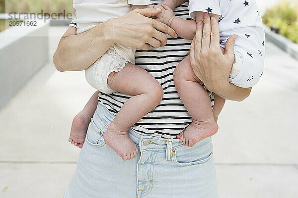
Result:
[[[106,23],[107,38],[112,43],[136,49],[159,48],[167,42],[166,34],[177,37],[173,29],[152,18],[161,12],[161,8],[134,9],[130,13],[117,19],[110,19]]]

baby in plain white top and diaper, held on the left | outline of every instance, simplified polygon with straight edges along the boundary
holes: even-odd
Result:
[[[108,19],[125,15],[132,8],[149,6],[149,0],[74,0],[77,34],[90,30]],[[128,136],[129,128],[157,106],[163,96],[163,89],[153,76],[134,63],[135,49],[114,44],[85,70],[87,82],[100,92],[121,92],[133,96],[123,104],[103,136],[107,145],[123,160],[133,159],[138,153],[137,146]],[[80,148],[86,134],[85,129],[90,122],[89,118],[95,110],[92,110],[93,106],[94,102],[90,101],[85,111],[73,122],[69,141]]]

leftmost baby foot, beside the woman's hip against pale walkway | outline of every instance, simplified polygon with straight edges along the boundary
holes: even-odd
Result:
[[[90,117],[88,114],[84,111],[79,112],[74,117],[69,142],[78,148],[82,148],[89,123]]]

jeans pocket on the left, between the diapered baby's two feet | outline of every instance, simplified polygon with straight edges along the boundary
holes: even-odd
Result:
[[[103,147],[106,143],[103,133],[107,127],[103,123],[95,124],[91,118],[85,141],[92,147]]]

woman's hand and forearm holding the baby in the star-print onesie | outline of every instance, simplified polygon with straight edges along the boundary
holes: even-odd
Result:
[[[234,43],[237,35],[232,35],[225,44],[224,54],[220,49],[220,31],[218,21],[208,14],[203,22],[197,23],[196,36],[190,48],[191,66],[196,76],[203,81],[208,90],[218,96],[242,101],[246,99],[251,88],[240,88],[228,82],[234,62]]]

